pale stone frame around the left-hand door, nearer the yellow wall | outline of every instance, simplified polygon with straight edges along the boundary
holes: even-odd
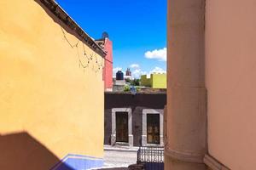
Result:
[[[116,142],[116,112],[128,112],[128,145],[133,146],[133,134],[132,134],[132,115],[131,108],[113,108],[112,109],[112,129],[111,129],[111,145],[119,144]],[[120,143],[121,144],[121,143]],[[126,144],[126,143],[122,143]]]

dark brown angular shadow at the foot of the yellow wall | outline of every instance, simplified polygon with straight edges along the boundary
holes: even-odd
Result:
[[[0,169],[47,170],[60,162],[57,156],[25,132],[0,134],[0,150]],[[73,170],[63,163],[57,169]]]

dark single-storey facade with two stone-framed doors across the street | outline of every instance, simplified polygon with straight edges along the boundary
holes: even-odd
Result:
[[[105,93],[104,144],[163,145],[166,93]]]

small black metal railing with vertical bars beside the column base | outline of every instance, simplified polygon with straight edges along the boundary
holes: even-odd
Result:
[[[137,150],[137,163],[163,163],[164,147],[161,146],[141,146]]]

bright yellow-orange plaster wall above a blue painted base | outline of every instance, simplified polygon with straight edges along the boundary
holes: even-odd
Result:
[[[84,45],[93,59],[79,66],[79,56],[87,63],[82,42],[71,48],[61,26],[35,1],[2,0],[0,23],[0,169],[40,161],[44,167],[31,169],[49,169],[70,153],[102,157],[104,84],[95,62],[102,57]],[[63,31],[71,44],[79,41]],[[54,159],[34,154],[40,148]],[[28,162],[10,156],[18,153]]]

